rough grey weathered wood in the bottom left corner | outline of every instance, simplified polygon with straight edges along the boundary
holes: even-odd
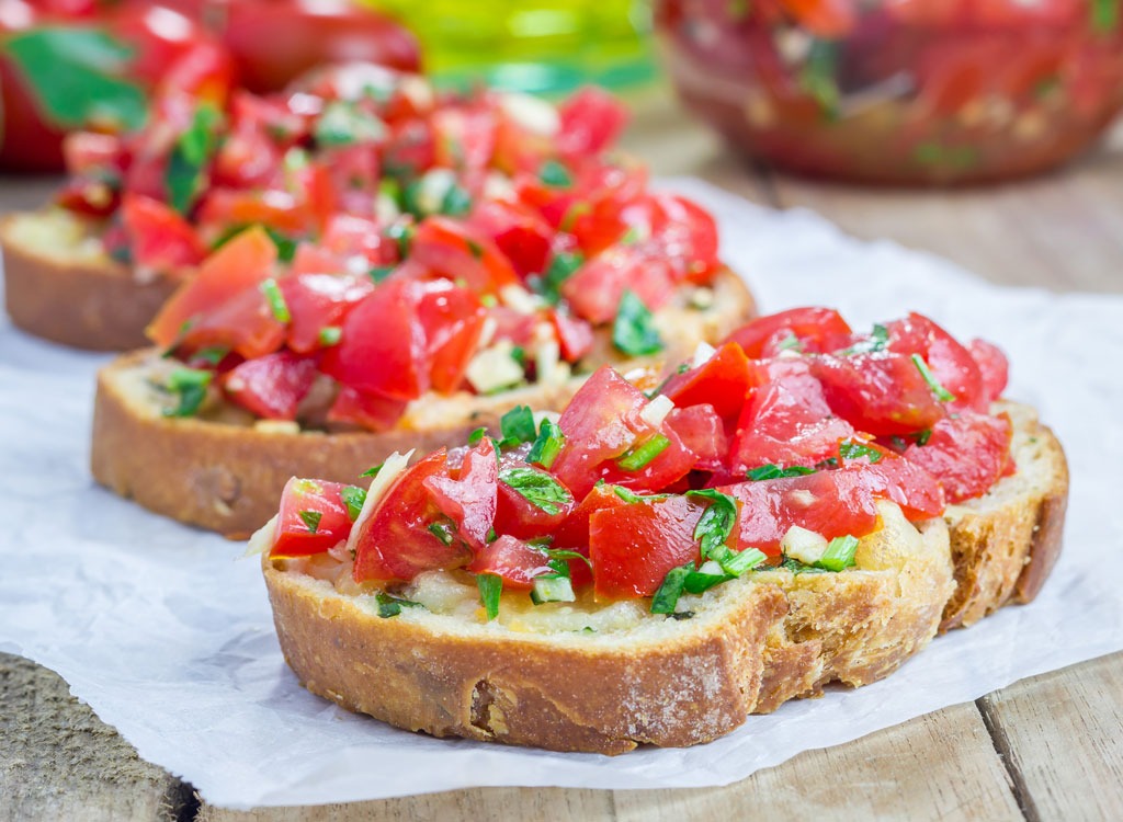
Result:
[[[57,674],[0,654],[0,820],[176,820],[193,804]]]

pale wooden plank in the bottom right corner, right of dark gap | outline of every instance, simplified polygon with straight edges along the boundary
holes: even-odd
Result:
[[[1123,652],[979,703],[1028,819],[1123,819]]]

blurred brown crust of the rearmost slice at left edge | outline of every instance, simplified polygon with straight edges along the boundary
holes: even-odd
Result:
[[[121,351],[147,345],[144,329],[179,282],[138,278],[106,256],[67,259],[36,248],[0,222],[4,302],[12,322],[28,334],[90,350]]]

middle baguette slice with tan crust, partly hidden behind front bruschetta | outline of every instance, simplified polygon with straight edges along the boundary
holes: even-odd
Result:
[[[706,309],[688,308],[684,292],[656,313],[668,355],[690,357],[699,340],[715,342],[754,313],[752,296],[730,271],[719,275],[712,298]],[[619,358],[610,335],[597,330],[597,347],[586,364]],[[414,401],[391,431],[325,433],[301,431],[294,423],[255,424],[229,407],[210,418],[165,417],[170,398],[154,383],[174,365],[148,349],[124,355],[98,374],[93,476],[152,511],[231,539],[248,537],[276,513],[291,476],[354,482],[395,450],[428,454],[463,444],[481,426],[497,431],[502,414],[515,405],[560,410],[583,382],[572,378],[491,396],[430,394]]]

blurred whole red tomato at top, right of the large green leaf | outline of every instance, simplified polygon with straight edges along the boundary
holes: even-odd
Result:
[[[254,92],[281,91],[325,63],[356,61],[416,72],[418,43],[389,17],[346,0],[238,0],[223,4],[222,39]]]

